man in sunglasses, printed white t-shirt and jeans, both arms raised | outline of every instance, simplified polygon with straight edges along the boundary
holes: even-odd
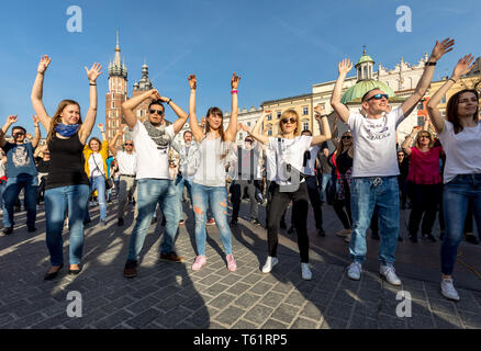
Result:
[[[339,63],[339,77],[334,87],[331,105],[347,123],[354,136],[354,165],[351,182],[353,233],[349,252],[353,263],[347,269],[351,280],[360,280],[366,258],[366,229],[374,207],[379,208],[381,242],[379,247],[380,274],[390,284],[401,285],[393,267],[399,237],[400,199],[396,162],[395,131],[413,112],[424,97],[434,75],[436,61],[452,49],[447,38],[436,45],[424,68],[414,93],[399,107],[390,107],[388,94],[376,88],[361,99],[365,114],[353,113],[340,102],[344,80],[353,68],[348,59]]]

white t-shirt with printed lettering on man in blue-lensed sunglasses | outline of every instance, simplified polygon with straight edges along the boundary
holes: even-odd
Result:
[[[347,124],[354,136],[353,177],[399,176],[395,129],[404,120],[401,106],[373,120],[350,113]]]

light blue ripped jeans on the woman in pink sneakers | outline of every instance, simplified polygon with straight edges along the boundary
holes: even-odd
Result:
[[[192,196],[198,254],[205,256],[205,218],[209,203],[211,204],[225,253],[232,254],[231,228],[227,224],[227,191],[225,186],[204,186],[193,183]]]

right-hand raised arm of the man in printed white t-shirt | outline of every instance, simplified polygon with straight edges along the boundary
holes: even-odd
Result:
[[[436,45],[434,46],[433,53],[430,54],[430,57],[424,67],[423,76],[421,76],[421,79],[414,89],[414,93],[401,105],[404,116],[409,116],[421,99],[423,99],[433,79],[434,67],[436,63],[443,57],[443,55],[452,50],[452,45],[455,45],[455,41],[450,38],[446,38],[441,43],[436,41]]]

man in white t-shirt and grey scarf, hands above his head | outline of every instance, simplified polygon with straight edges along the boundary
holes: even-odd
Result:
[[[148,106],[147,121],[141,123],[133,110],[149,99],[152,102]],[[167,127],[165,126],[164,103],[170,105],[179,117]],[[134,278],[137,275],[139,253],[157,203],[167,219],[160,244],[160,259],[183,262],[183,258],[178,257],[174,248],[179,226],[180,206],[176,186],[169,174],[169,146],[174,136],[182,128],[188,115],[171,99],[160,97],[156,89],[125,101],[122,104],[122,111],[137,154],[138,215],[132,231],[128,257],[124,268],[124,276]]]

